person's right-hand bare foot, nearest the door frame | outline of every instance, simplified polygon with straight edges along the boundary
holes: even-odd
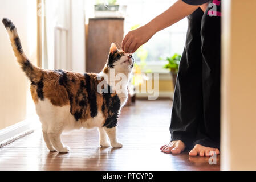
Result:
[[[211,148],[211,147],[205,147],[202,146],[201,144],[196,144],[194,146],[194,148],[192,150],[190,150],[189,155],[190,156],[212,156],[214,154],[214,152],[216,152],[216,154],[220,154],[220,151],[218,150],[218,148]]]

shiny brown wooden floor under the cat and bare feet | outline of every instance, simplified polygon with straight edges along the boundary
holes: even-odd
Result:
[[[69,154],[48,152],[40,130],[0,148],[0,170],[219,170],[209,158],[164,154],[169,142],[170,100],[138,100],[124,107],[119,119],[123,148],[100,148],[97,129],[75,130],[62,135]]]

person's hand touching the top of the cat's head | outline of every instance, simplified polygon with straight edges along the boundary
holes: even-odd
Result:
[[[153,28],[143,26],[129,31],[122,42],[122,49],[125,53],[134,53],[141,45],[155,34]]]

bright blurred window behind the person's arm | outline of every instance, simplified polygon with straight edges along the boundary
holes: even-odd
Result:
[[[127,5],[127,15],[125,16],[125,34],[131,30],[131,27],[136,25],[144,25],[155,16],[161,14],[173,3],[175,0],[129,0],[119,1],[120,4]],[[173,24],[157,32],[147,43],[143,45],[148,53],[146,62],[147,65],[165,64],[164,61],[159,61],[159,57],[173,55],[174,53],[181,54],[185,45],[187,21],[186,18],[180,22]],[[136,61],[140,61],[140,56],[135,53]],[[153,67],[152,67],[153,68]]]

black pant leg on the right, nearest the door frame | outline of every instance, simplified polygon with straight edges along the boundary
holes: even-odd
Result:
[[[204,119],[198,127],[194,144],[220,148],[220,60],[221,17],[202,17],[202,94]],[[220,6],[217,6],[220,12]]]

